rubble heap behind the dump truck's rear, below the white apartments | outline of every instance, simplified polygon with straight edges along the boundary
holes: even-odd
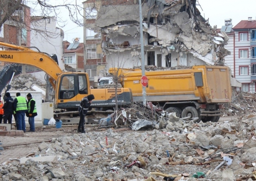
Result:
[[[256,94],[250,92],[235,92],[235,98],[231,103],[225,104],[226,116],[248,115],[256,113]]]

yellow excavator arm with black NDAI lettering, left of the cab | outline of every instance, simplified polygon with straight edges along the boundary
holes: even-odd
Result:
[[[58,75],[63,71],[58,66],[58,64],[50,57],[50,55],[42,52],[33,51],[32,49],[23,46],[16,46],[0,42],[0,46],[1,45],[15,50],[0,51],[0,61],[17,64],[27,64],[38,67],[50,76],[49,82],[55,89]]]

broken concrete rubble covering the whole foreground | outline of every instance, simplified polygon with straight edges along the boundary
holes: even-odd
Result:
[[[0,166],[0,180],[255,180],[256,114],[232,122],[53,138]],[[174,179],[173,179],[174,180]]]

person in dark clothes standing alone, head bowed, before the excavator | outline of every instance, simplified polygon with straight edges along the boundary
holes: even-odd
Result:
[[[84,131],[84,116],[87,114],[88,108],[92,103],[92,100],[94,99],[94,95],[90,94],[87,95],[86,97],[84,97],[81,102],[80,102],[80,106],[78,108],[78,112],[79,112],[79,116],[80,116],[80,120],[79,120],[79,124],[78,124],[78,128],[77,128],[77,132],[78,133],[85,133]]]

